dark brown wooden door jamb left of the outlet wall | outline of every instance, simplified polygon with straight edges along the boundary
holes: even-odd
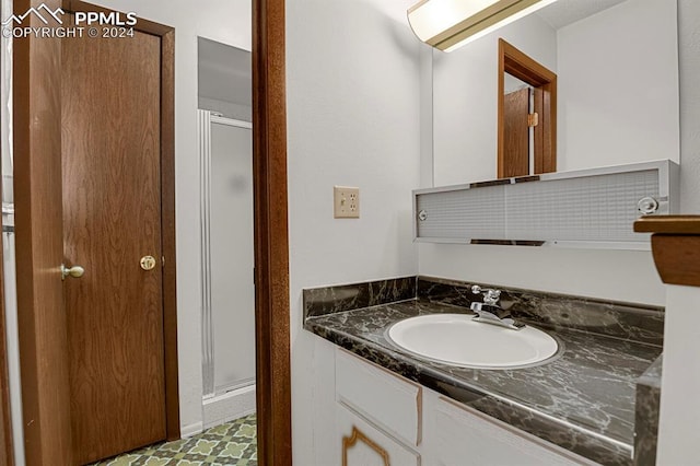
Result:
[[[291,466],[284,0],[253,0],[258,461]]]

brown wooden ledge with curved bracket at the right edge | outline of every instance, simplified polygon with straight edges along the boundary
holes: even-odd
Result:
[[[664,283],[700,287],[700,215],[645,217],[634,231],[652,234],[652,253]]]

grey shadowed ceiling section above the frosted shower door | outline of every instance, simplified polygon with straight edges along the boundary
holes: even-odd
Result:
[[[199,96],[252,106],[250,53],[198,38]]]

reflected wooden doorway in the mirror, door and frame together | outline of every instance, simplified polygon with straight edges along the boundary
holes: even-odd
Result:
[[[523,88],[509,92],[506,77],[522,81]],[[557,74],[503,39],[498,106],[499,178],[556,172]]]

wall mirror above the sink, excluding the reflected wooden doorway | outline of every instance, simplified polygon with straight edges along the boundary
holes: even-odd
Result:
[[[498,177],[499,39],[557,74],[557,171],[679,162],[676,0],[559,0],[432,51],[435,186]]]

